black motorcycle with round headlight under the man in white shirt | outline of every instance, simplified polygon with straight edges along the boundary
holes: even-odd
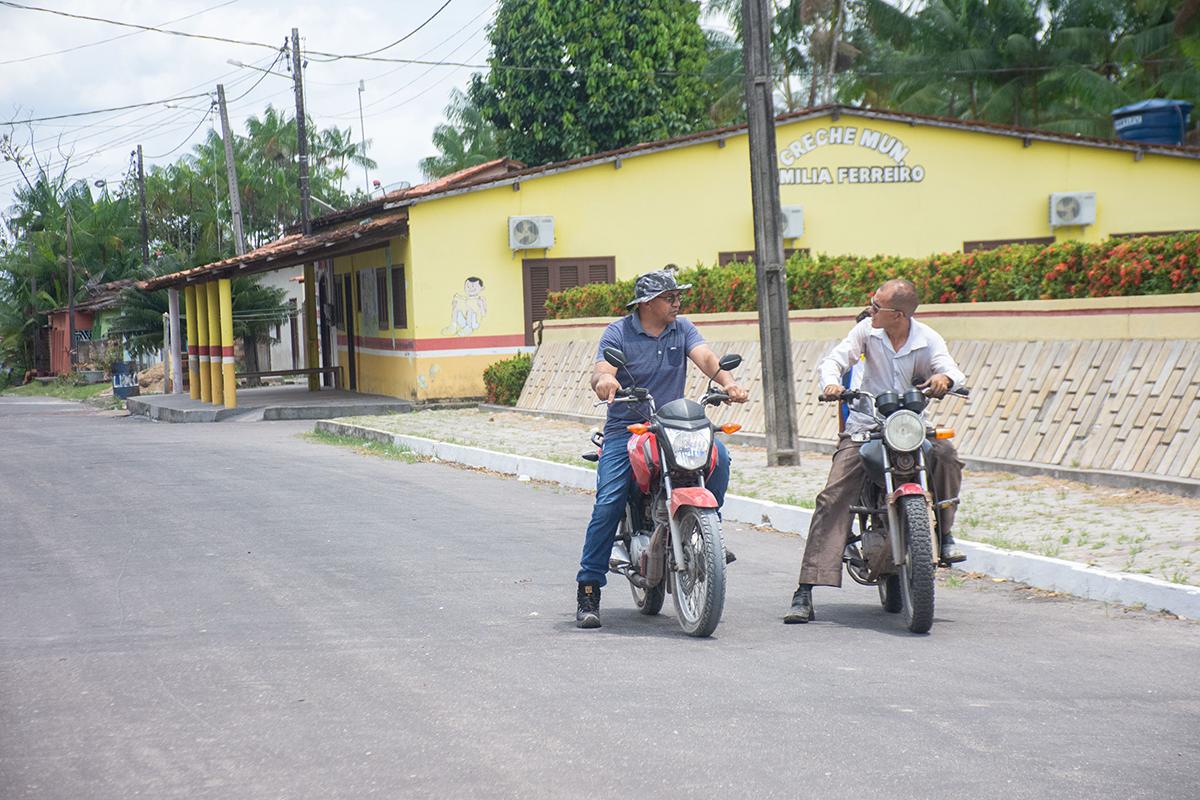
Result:
[[[970,390],[950,393],[967,397]],[[934,439],[950,439],[950,428],[934,428],[925,421],[929,397],[918,389],[904,395],[853,390],[839,397],[821,395],[822,402],[853,403],[865,398],[875,425],[851,440],[862,445],[866,479],[858,505],[851,506],[850,537],[842,553],[846,572],[865,587],[878,587],[880,602],[892,614],[904,613],[913,633],[934,625],[934,573],[938,566],[941,512],[958,505],[958,498],[935,501],[926,480]],[[932,515],[931,515],[932,512]],[[854,522],[858,531],[854,531]],[[949,565],[943,565],[949,566]]]

